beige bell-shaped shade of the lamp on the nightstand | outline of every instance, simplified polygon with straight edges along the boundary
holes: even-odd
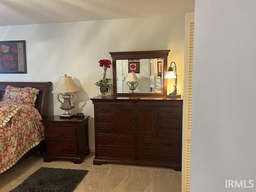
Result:
[[[58,86],[52,91],[52,93],[71,93],[80,90],[81,89],[78,86],[76,86],[72,78],[65,74],[64,77],[60,77]]]

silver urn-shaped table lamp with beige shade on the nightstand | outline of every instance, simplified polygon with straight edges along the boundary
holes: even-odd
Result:
[[[52,93],[58,93],[57,100],[60,102],[60,108],[65,110],[65,113],[60,116],[60,118],[72,118],[75,114],[70,113],[70,109],[74,108],[74,102],[76,101],[76,94],[72,92],[78,92],[81,89],[76,86],[74,81],[70,76],[66,74],[64,77],[60,77],[58,86],[52,91]],[[62,94],[64,93],[64,94]],[[71,93],[71,94],[69,94]],[[60,97],[63,98],[63,102],[60,100]],[[75,98],[73,102],[70,102],[71,98]]]

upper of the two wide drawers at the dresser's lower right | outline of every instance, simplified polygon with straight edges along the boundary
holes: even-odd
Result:
[[[138,148],[157,150],[179,150],[179,139],[138,138]]]

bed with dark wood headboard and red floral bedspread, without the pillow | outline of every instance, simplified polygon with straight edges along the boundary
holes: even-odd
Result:
[[[8,85],[39,90],[35,106],[2,102]],[[51,85],[51,82],[0,82],[0,174],[38,152],[42,146],[44,128],[40,120],[48,117]]]

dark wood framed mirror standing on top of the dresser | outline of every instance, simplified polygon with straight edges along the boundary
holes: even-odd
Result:
[[[114,96],[166,96],[170,50],[110,52]]]

